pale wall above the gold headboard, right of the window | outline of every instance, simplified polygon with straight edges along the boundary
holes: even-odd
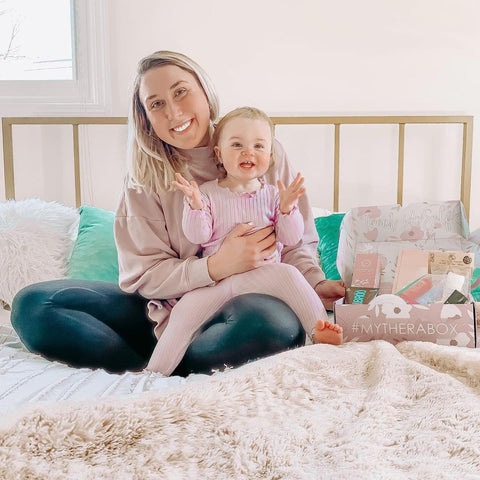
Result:
[[[108,0],[108,15],[108,114],[127,114],[139,58],[177,50],[209,73],[222,112],[474,115],[480,178],[478,0]],[[470,218],[478,228],[475,186]]]

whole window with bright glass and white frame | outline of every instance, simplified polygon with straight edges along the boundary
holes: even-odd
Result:
[[[0,0],[0,115],[107,110],[106,0]]]

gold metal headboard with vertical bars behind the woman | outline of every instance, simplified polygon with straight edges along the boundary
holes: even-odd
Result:
[[[461,124],[463,125],[462,146],[462,174],[460,187],[460,200],[465,207],[469,218],[470,189],[472,172],[472,116],[351,116],[351,117],[272,117],[275,125],[334,125],[334,188],[333,210],[338,211],[340,193],[340,127],[341,125],[398,125],[398,180],[397,203],[403,201],[403,173],[405,152],[405,125],[409,124]],[[7,199],[15,198],[15,177],[13,164],[13,125],[72,125],[73,155],[75,171],[75,201],[77,206],[81,203],[80,191],[80,154],[79,154],[79,125],[123,125],[127,123],[126,117],[5,117],[2,118],[3,130],[3,160],[5,173],[5,196]]]

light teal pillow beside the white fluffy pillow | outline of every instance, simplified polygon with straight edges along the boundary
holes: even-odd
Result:
[[[79,213],[78,237],[68,262],[67,277],[118,283],[114,212],[83,205]]]

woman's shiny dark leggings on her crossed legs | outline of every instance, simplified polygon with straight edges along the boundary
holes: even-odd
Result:
[[[156,344],[146,303],[112,283],[53,280],[22,289],[13,300],[11,321],[30,351],[51,360],[110,372],[141,370]],[[205,324],[174,374],[237,366],[304,341],[285,303],[242,295]]]

